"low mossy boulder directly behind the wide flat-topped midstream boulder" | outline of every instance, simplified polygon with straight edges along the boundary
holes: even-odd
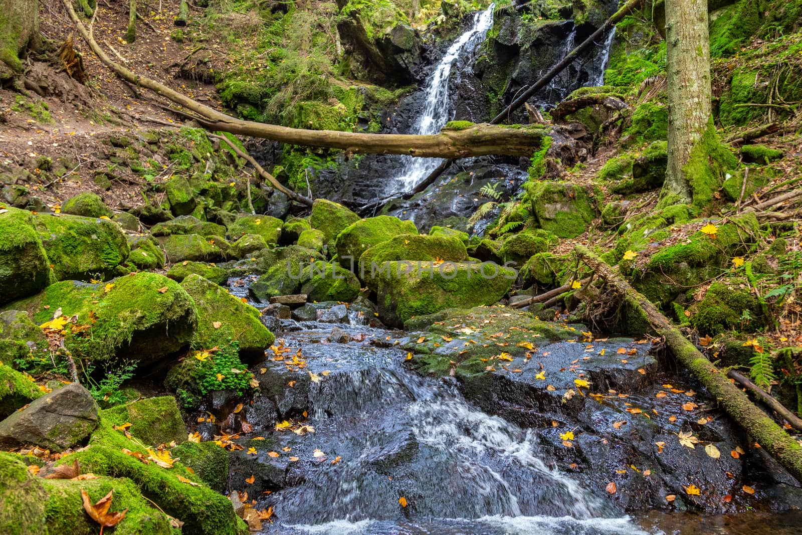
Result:
[[[458,237],[399,234],[367,249],[359,257],[357,274],[375,290],[374,274],[386,261],[437,259],[461,262],[468,259],[468,249]]]

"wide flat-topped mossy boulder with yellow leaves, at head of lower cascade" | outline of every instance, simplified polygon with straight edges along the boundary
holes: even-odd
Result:
[[[379,318],[389,326],[448,308],[492,305],[516,278],[515,270],[495,264],[391,261],[383,268],[376,301]]]

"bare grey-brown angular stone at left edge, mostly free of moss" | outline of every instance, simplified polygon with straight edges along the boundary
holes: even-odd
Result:
[[[98,404],[79,383],[34,400],[0,422],[0,448],[35,445],[61,452],[79,444],[98,423]]]

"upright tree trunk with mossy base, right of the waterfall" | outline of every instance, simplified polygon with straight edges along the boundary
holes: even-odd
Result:
[[[661,206],[702,209],[723,172],[738,161],[718,140],[712,119],[707,2],[666,0],[668,169]]]

